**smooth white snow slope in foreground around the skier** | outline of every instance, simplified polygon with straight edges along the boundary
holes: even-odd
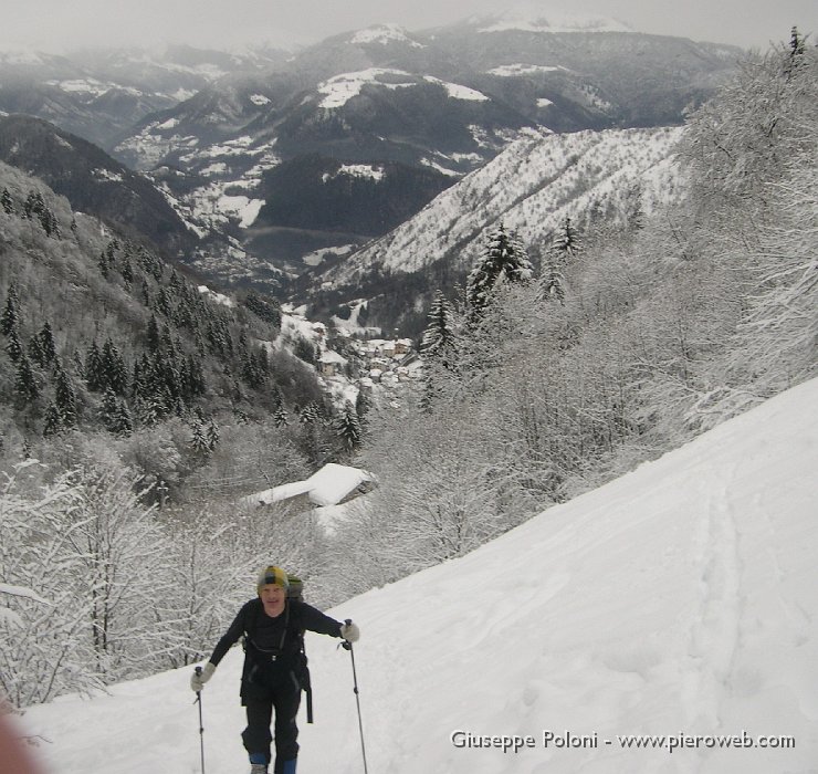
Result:
[[[817,771],[816,407],[818,380],[335,610],[363,629],[355,655],[369,771]],[[336,645],[307,641],[316,724],[302,726],[303,772],[363,771],[350,660]],[[230,653],[204,691],[209,774],[245,767],[240,660]],[[24,722],[49,740],[54,773],[192,773],[189,674],[63,698]],[[458,749],[455,730],[532,735],[534,747]],[[545,730],[597,734],[598,746],[546,747]],[[617,741],[743,731],[791,735],[796,746],[671,753]]]

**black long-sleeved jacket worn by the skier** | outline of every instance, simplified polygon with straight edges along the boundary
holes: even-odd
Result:
[[[241,697],[270,699],[276,686],[293,679],[304,686],[306,658],[302,651],[304,631],[340,637],[340,621],[296,599],[287,599],[284,611],[271,618],[258,597],[242,605],[239,615],[217,642],[210,661],[218,666],[230,648],[244,637],[244,669]]]

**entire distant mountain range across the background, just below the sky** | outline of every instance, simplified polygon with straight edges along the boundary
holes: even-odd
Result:
[[[380,248],[367,247],[348,270],[319,276],[510,145],[681,124],[740,53],[535,9],[423,31],[380,24],[289,57],[181,46],[4,52],[0,113],[44,118],[141,170],[191,233],[216,234],[212,249],[188,257],[209,281],[281,295],[297,284],[301,302],[310,283],[334,293],[361,266],[417,260],[399,249],[385,265]]]

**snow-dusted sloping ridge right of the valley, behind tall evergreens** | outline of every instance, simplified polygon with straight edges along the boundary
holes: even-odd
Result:
[[[385,278],[406,287],[402,318],[427,308],[440,287],[461,281],[502,222],[534,257],[566,217],[580,230],[607,218],[649,215],[680,191],[674,147],[681,127],[549,134],[531,130],[481,169],[440,194],[417,216],[344,261],[317,263],[301,289],[333,306],[369,300],[371,324],[396,322]],[[319,310],[322,313],[326,310]]]

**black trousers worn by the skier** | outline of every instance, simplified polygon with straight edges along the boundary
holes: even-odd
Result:
[[[275,766],[274,774],[294,774],[298,755],[298,726],[296,715],[301,703],[301,686],[292,672],[271,687],[269,699],[245,698],[248,726],[241,734],[244,749],[253,763],[269,763],[273,736],[270,724],[275,712]],[[262,756],[263,761],[258,759]]]

